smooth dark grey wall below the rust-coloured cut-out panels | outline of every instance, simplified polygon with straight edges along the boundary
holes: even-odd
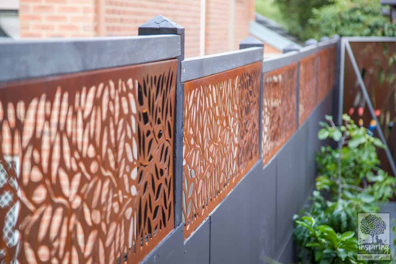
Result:
[[[181,225],[143,263],[255,264],[267,263],[266,257],[292,263],[292,217],[314,188],[316,152],[330,143],[317,139],[318,122],[332,111],[333,91],[270,162],[263,167],[257,161],[184,243]]]

